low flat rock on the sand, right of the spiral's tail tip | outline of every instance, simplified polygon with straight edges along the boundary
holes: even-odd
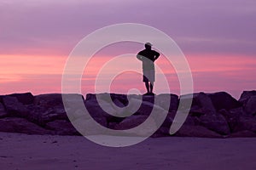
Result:
[[[203,138],[222,138],[218,133],[215,133],[206,127],[183,125],[174,136],[180,137],[203,137]]]

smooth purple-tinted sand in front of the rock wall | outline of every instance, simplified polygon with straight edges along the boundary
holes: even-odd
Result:
[[[149,138],[110,148],[82,136],[0,133],[1,169],[256,169],[256,139]]]

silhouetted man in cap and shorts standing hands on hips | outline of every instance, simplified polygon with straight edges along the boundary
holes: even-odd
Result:
[[[148,95],[154,95],[154,61],[160,56],[158,52],[151,49],[151,46],[150,42],[145,43],[145,49],[137,54],[137,59],[143,61],[143,82],[145,82]]]

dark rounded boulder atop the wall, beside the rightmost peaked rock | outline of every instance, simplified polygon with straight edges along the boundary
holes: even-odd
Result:
[[[241,107],[240,102],[238,102],[230,94],[227,94],[225,92],[208,94],[208,96],[212,99],[212,104],[216,111],[219,111],[221,109],[229,111],[230,109]]]

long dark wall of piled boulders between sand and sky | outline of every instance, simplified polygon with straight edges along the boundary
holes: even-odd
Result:
[[[175,94],[141,96],[136,94],[80,94],[69,96],[64,107],[61,94],[9,94],[0,96],[0,131],[29,134],[79,135],[99,134],[95,122],[113,130],[129,130],[150,122],[142,132],[147,135],[161,126],[152,137],[170,136],[170,127],[177,114],[187,114],[183,126],[174,136],[207,138],[256,137],[256,91],[246,91],[239,101],[230,94]],[[180,103],[192,99],[192,105]],[[82,103],[79,103],[81,102]],[[83,108],[81,108],[81,106]],[[85,110],[86,109],[86,110]],[[178,111],[177,111],[178,109]],[[166,119],[151,116],[152,111],[166,113]],[[67,116],[67,111],[69,115]],[[88,111],[89,114],[86,114]],[[148,118],[148,116],[151,116]],[[94,119],[95,122],[90,122]],[[149,120],[150,119],[150,120]],[[78,129],[70,122],[79,122]],[[78,132],[79,131],[79,132]]]

